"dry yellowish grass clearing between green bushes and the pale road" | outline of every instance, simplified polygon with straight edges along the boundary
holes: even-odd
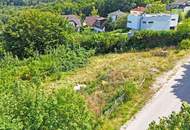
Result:
[[[151,83],[163,71],[171,69],[175,62],[187,55],[187,51],[161,49],[147,52],[107,54],[90,59],[83,68],[64,74],[62,80],[50,83],[48,87],[75,86],[86,84],[82,90],[89,108],[103,119],[101,130],[115,130],[129,120],[154,93]],[[114,97],[120,86],[133,82],[138,86],[138,92],[129,101],[119,105],[108,115],[102,115],[102,110]],[[89,87],[89,90],[88,90]]]

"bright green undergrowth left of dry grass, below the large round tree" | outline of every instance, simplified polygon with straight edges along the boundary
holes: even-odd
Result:
[[[24,60],[6,54],[0,60],[0,128],[93,129],[93,117],[80,95],[66,86],[53,90],[42,84],[83,66],[91,54],[64,46]]]

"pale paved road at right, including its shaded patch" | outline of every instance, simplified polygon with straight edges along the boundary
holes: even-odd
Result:
[[[152,121],[180,111],[183,101],[190,103],[190,60],[177,68],[177,72],[162,86],[156,95],[121,130],[147,130]]]

